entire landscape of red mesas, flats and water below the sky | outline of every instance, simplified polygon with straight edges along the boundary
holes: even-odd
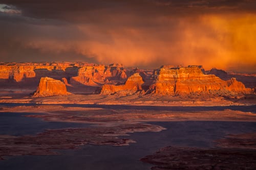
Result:
[[[1,63],[0,167],[71,169],[74,156],[88,158],[78,169],[254,169],[255,78],[195,65]]]

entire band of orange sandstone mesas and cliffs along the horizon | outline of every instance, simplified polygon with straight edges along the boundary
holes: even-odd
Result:
[[[216,68],[205,71],[198,65],[163,65],[152,71],[125,69],[122,64],[105,66],[86,62],[0,63],[0,86],[38,86],[33,97],[66,95],[75,93],[78,87],[80,93],[89,89],[101,95],[247,94],[255,89],[255,77],[249,75],[244,79],[243,75],[228,74]],[[244,83],[252,89],[246,88]]]

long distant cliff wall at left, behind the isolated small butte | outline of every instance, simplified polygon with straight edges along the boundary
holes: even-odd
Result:
[[[100,85],[108,80],[125,80],[122,64],[109,66],[86,62],[39,62],[39,63],[0,63],[0,80],[17,83],[38,82],[41,77],[61,80],[70,84]]]

